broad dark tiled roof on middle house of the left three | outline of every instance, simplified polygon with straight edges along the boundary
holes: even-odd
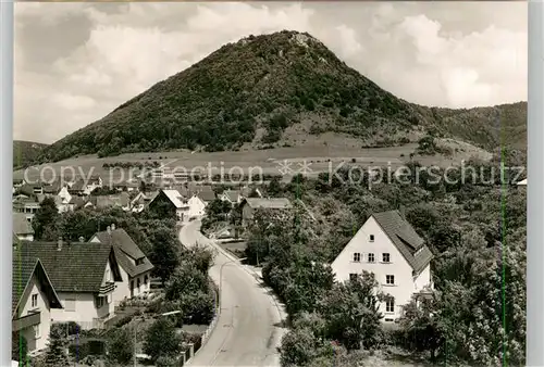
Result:
[[[98,292],[108,260],[114,260],[111,245],[88,242],[64,242],[58,250],[57,242],[21,241],[21,253],[41,261],[57,292]],[[121,280],[113,265],[114,279]]]

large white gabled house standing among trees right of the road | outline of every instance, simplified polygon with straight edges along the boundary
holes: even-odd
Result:
[[[375,213],[331,264],[336,281],[363,270],[373,273],[380,290],[391,295],[381,304],[384,321],[401,316],[416,293],[432,289],[433,254],[398,211]]]

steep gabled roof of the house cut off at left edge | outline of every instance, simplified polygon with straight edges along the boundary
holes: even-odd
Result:
[[[52,308],[62,308],[61,302],[57,296],[57,292],[51,284],[50,278],[41,262],[33,254],[22,253],[18,248],[13,250],[12,260],[12,283],[11,283],[11,314],[15,317],[15,313],[21,302],[32,276],[36,273],[38,280],[41,282],[44,293],[49,299],[49,305]]]

